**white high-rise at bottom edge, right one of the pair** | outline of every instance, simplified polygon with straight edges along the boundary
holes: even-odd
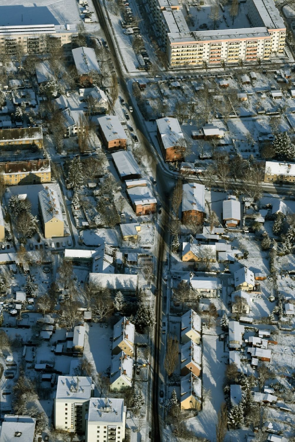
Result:
[[[89,401],[86,442],[122,442],[125,439],[124,399],[95,397]]]

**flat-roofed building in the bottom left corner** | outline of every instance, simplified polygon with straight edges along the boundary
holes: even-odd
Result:
[[[0,442],[34,442],[36,419],[31,416],[4,415]]]

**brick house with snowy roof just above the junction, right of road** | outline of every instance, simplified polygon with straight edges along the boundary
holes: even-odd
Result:
[[[177,118],[159,118],[157,138],[165,161],[181,161],[184,157],[186,141]]]

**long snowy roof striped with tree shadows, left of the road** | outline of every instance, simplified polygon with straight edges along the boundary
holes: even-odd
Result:
[[[137,287],[137,275],[90,273],[89,285],[100,286],[111,290],[131,290]]]

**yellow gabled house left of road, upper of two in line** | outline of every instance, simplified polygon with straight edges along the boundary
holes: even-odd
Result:
[[[121,354],[123,351],[127,356],[134,355],[134,324],[125,316],[114,325],[113,331],[113,354]]]

